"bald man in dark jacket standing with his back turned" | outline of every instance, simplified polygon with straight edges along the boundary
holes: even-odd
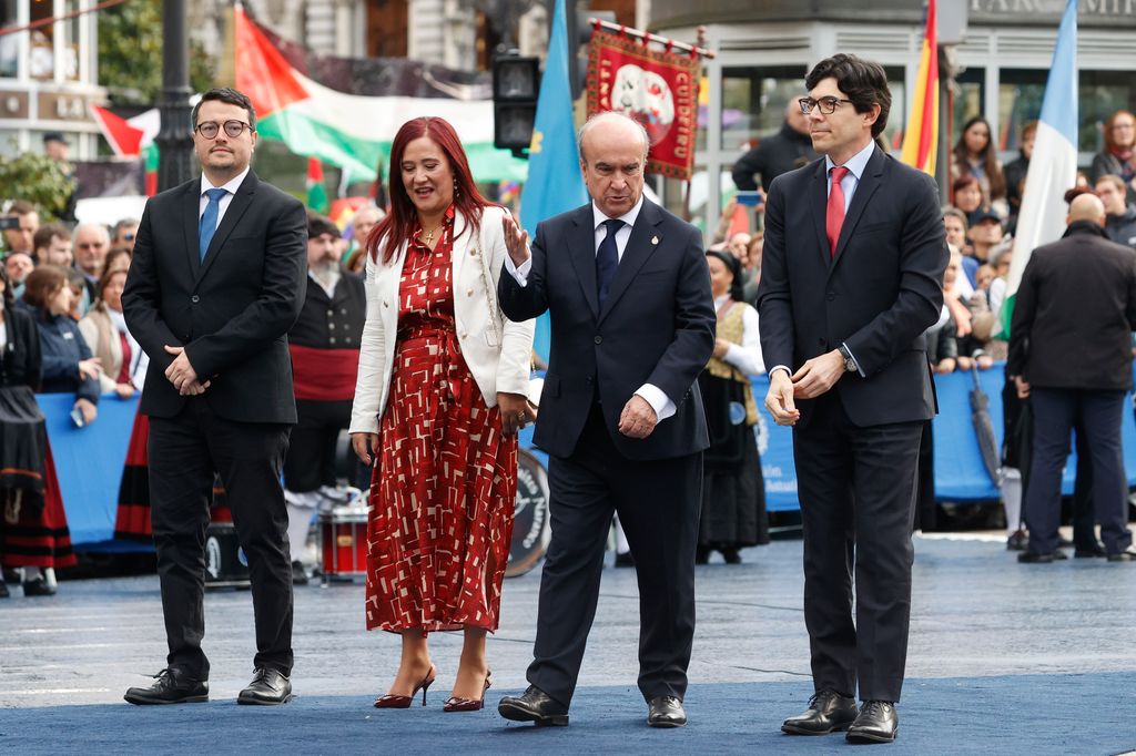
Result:
[[[1029,548],[1018,561],[1063,558],[1058,552],[1061,470],[1076,426],[1093,459],[1093,507],[1108,560],[1133,562],[1120,420],[1133,387],[1136,252],[1105,236],[1104,204],[1093,194],[1074,199],[1067,222],[1060,241],[1034,250],[1010,325],[1006,375],[1034,411],[1024,503]]]

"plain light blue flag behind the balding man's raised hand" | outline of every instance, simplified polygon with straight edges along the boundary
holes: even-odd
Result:
[[[563,0],[557,0],[552,14],[552,40],[544,61],[533,144],[528,151],[528,180],[520,192],[520,225],[528,232],[529,238],[536,236],[536,224],[587,201],[576,151]],[[543,360],[549,359],[550,336],[549,316],[545,313],[536,321],[536,338],[533,342],[533,348]]]

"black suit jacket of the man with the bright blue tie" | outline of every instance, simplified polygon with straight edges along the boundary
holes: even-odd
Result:
[[[184,346],[218,415],[239,422],[295,422],[286,334],[307,285],[303,205],[250,170],[209,244],[198,254],[200,179],[151,198],[142,213],[123,292],[131,334],[150,369],[141,411],[181,412],[186,397],[166,379]]]

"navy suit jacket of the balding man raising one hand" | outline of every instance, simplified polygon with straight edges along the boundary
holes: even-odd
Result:
[[[643,201],[601,310],[591,203],[536,227],[533,267],[521,287],[502,271],[501,310],[510,320],[552,321],[549,370],[534,443],[569,456],[599,394],[603,419],[629,460],[693,454],[709,445],[695,383],[713,352],[710,272],[696,228]],[[619,432],[632,395],[652,384],[676,413],[644,439]]]

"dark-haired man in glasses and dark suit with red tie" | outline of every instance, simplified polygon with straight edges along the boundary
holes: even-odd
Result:
[[[805,87],[824,158],[769,188],[758,291],[766,406],[793,427],[816,688],[782,730],[889,742],[919,439],[936,411],[922,334],[938,319],[949,255],[934,179],[876,146],[892,101],[884,69],[836,54]]]

